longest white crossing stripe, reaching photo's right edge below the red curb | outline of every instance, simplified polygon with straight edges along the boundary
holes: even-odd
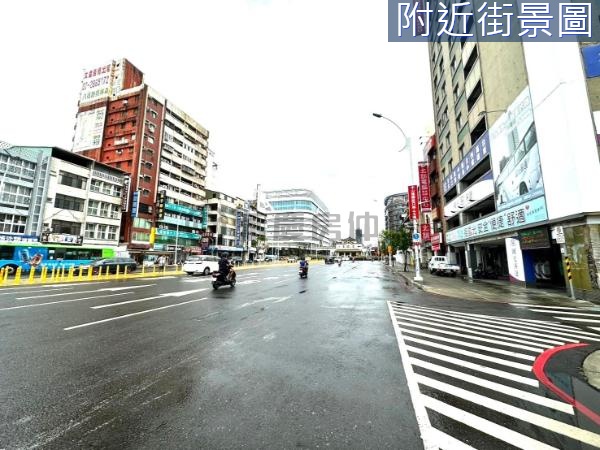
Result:
[[[591,431],[583,430],[581,428],[574,427],[573,425],[559,422],[558,420],[550,419],[525,409],[517,408],[516,406],[509,405],[508,403],[500,402],[498,400],[476,394],[475,392],[467,391],[451,384],[444,383],[443,381],[434,380],[423,375],[416,375],[416,378],[419,384],[424,384],[425,386],[429,386],[433,389],[446,392],[477,405],[484,406],[493,411],[506,414],[512,418],[532,423],[533,425],[553,431],[554,433],[562,434],[563,436],[567,436],[571,439],[575,439],[595,447],[600,447],[600,435],[592,433]]]

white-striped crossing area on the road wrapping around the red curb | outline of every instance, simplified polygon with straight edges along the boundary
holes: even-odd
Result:
[[[533,373],[545,351],[600,334],[553,320],[388,307],[426,449],[600,448],[600,429],[580,427],[578,411]]]

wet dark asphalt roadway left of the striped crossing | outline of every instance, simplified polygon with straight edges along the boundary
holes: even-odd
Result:
[[[1,290],[0,448],[422,448],[379,263],[209,282]]]

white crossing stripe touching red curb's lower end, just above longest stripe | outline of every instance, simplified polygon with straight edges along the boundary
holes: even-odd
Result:
[[[466,381],[477,386],[481,386],[487,389],[491,389],[502,394],[510,395],[518,399],[523,399],[531,403],[536,403],[541,406],[555,409],[557,411],[564,412],[566,414],[574,415],[573,407],[568,403],[552,400],[550,398],[542,397],[541,395],[532,394],[531,392],[522,391],[521,389],[515,389],[510,386],[506,386],[501,383],[486,380],[485,378],[474,377],[466,373],[459,372],[457,370],[448,369],[447,367],[440,366],[438,364],[432,364],[427,361],[422,361],[417,358],[410,358],[410,362],[416,366],[423,367],[428,370],[432,370],[442,375],[447,375],[458,380]]]

